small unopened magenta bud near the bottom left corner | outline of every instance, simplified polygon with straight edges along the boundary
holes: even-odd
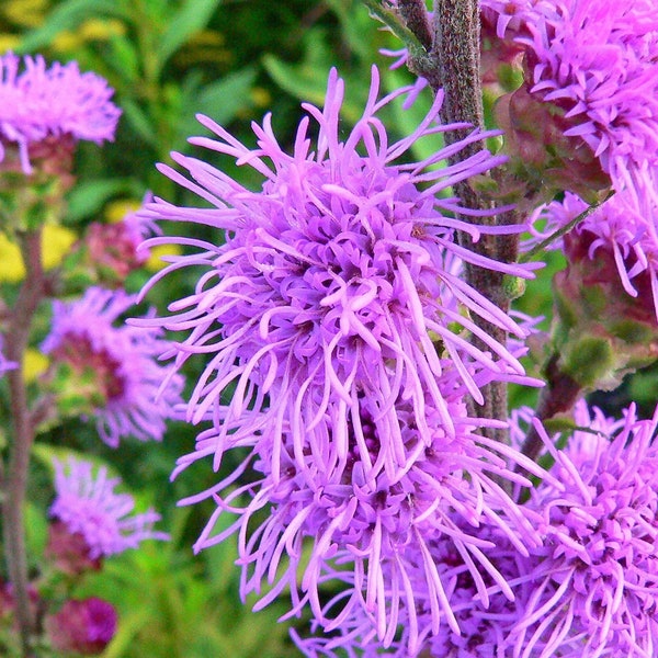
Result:
[[[70,599],[46,617],[46,631],[57,651],[97,656],[110,644],[116,632],[114,606],[99,599]]]

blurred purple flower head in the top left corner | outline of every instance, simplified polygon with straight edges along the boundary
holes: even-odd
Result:
[[[19,147],[22,170],[30,174],[31,149],[46,138],[72,138],[101,144],[114,138],[121,110],[114,91],[95,73],[81,73],[78,64],[42,56],[0,57],[0,161],[10,144]]]

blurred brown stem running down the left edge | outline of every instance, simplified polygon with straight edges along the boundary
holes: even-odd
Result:
[[[30,328],[36,308],[44,297],[45,277],[42,269],[41,230],[19,236],[26,276],[9,321],[5,336],[5,356],[19,364],[9,371],[12,435],[9,444],[8,468],[4,473],[2,501],[4,554],[9,578],[16,603],[16,621],[25,658],[34,656],[32,637],[35,627],[30,608],[25,523],[23,508],[27,488],[30,453],[34,442],[34,422],[31,418],[27,390],[23,378],[23,360]]]

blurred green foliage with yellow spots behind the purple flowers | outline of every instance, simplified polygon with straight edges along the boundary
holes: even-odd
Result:
[[[49,61],[80,64],[105,77],[116,90],[122,107],[116,140],[100,148],[82,143],[78,149],[78,184],[69,195],[65,225],[49,227],[45,241],[46,264],[56,265],[81,228],[93,220],[112,222],[139,206],[147,191],[177,204],[197,205],[181,188],[156,170],[156,162],[171,163],[172,150],[195,154],[186,143],[203,135],[195,114],[203,113],[253,144],[252,121],[273,113],[280,141],[292,144],[300,116],[299,102],[321,104],[331,66],[347,80],[345,126],[360,116],[373,63],[384,71],[383,87],[390,91],[411,78],[404,69],[387,70],[392,59],[382,48],[398,48],[393,36],[379,29],[356,0],[2,0],[0,53],[43,54]],[[387,109],[393,137],[407,134],[430,99],[410,110]],[[423,154],[415,154],[422,157]],[[427,155],[427,154],[424,154]],[[207,151],[203,154],[208,158]],[[228,159],[216,164],[241,182],[257,186],[252,174]],[[166,230],[169,228],[164,227]],[[181,227],[175,228],[180,235]],[[196,229],[198,230],[198,229]],[[208,239],[220,236],[208,234]],[[149,262],[160,266],[158,253]],[[560,266],[559,254],[551,269]],[[188,269],[186,269],[188,270]],[[193,281],[190,272],[168,279],[149,296],[163,309],[168,298],[181,297]],[[0,237],[0,284],[15,286],[23,276],[15,247]],[[148,279],[135,273],[133,292]],[[532,315],[549,311],[549,277],[531,287],[522,307]],[[33,343],[47,332],[36,327]],[[33,350],[29,376],[46,367]],[[200,363],[191,362],[193,381]],[[195,370],[196,368],[196,370]],[[623,404],[631,394],[648,398],[655,374],[640,373],[617,394]],[[532,393],[513,392],[514,404],[532,402]],[[49,472],[39,466],[39,450],[72,449],[93,453],[111,463],[143,506],[152,504],[163,517],[160,526],[171,533],[169,543],[146,543],[106,563],[88,578],[79,595],[100,595],[120,613],[116,637],[105,658],[281,658],[297,656],[288,639],[290,624],[279,623],[284,604],[253,613],[238,595],[235,541],[194,556],[192,544],[212,506],[177,507],[184,496],[217,479],[207,465],[169,476],[177,457],[191,452],[197,429],[172,423],[161,443],[124,441],[113,451],[95,435],[93,423],[69,421],[39,436],[36,468],[30,490],[31,555],[38,556],[46,537],[44,510],[53,495]],[[47,450],[46,447],[47,446]],[[44,460],[45,462],[45,460]],[[230,468],[227,462],[223,468]],[[35,558],[36,559],[36,558]],[[35,565],[36,566],[36,565]]]

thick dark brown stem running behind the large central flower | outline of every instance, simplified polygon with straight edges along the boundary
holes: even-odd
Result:
[[[445,123],[467,122],[475,128],[484,127],[483,93],[479,67],[479,3],[477,0],[435,0],[434,3],[434,44],[430,53],[432,68],[438,76],[428,78],[435,91],[441,87],[444,93],[441,117]],[[464,128],[445,133],[447,144],[464,139],[473,128]],[[475,141],[455,156],[463,160],[476,155],[485,148],[483,141]],[[455,193],[465,207],[485,208],[489,204],[469,186],[467,181],[455,185]],[[463,219],[468,220],[467,217]],[[490,224],[515,224],[519,217],[514,213],[506,213],[490,217]],[[487,223],[478,218],[478,222]],[[483,236],[473,242],[466,234],[460,235],[460,242],[467,249],[499,262],[513,262],[517,258],[518,238]],[[502,310],[509,309],[509,298],[503,290],[503,275],[484,268],[466,263],[466,281],[485,297]],[[507,333],[503,329],[476,316],[474,321],[497,342],[506,344]],[[474,344],[483,350],[487,347],[474,339]],[[478,416],[506,420],[508,417],[507,384],[492,382],[483,388],[484,409]],[[475,409],[474,409],[475,411]],[[499,441],[506,441],[507,434],[501,430],[489,431],[488,434]]]

